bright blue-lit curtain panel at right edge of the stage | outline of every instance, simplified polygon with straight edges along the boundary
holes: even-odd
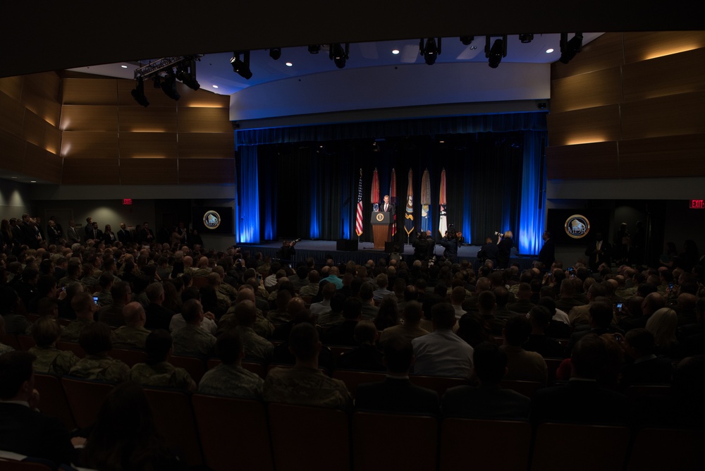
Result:
[[[524,164],[519,220],[519,253],[537,255],[546,225],[546,164],[541,155],[545,132],[524,134]]]

